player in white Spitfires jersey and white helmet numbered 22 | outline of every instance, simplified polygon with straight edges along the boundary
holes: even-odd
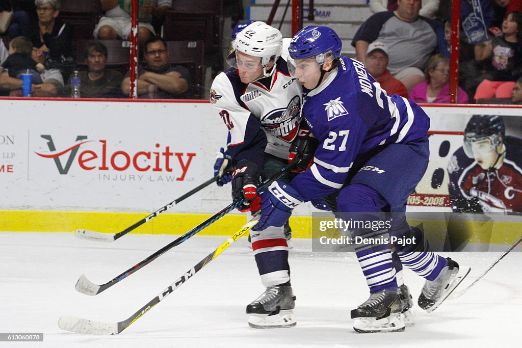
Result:
[[[257,198],[243,210],[259,209],[261,177],[288,163],[290,145],[298,139],[302,88],[288,74],[281,47],[279,30],[263,22],[248,25],[233,41],[228,58],[232,68],[215,78],[210,91],[210,103],[229,132],[228,149],[223,152],[235,169],[232,196]],[[218,162],[215,169],[222,172]],[[281,179],[289,182],[294,175],[286,172]],[[248,323],[254,328],[294,326],[295,297],[283,228],[251,231],[250,237],[266,291],[247,306]]]

